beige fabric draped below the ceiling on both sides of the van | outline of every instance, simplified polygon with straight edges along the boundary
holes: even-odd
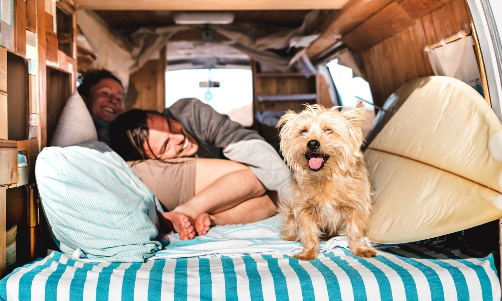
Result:
[[[288,65],[291,57],[282,57],[269,50],[287,48],[292,38],[306,34],[306,29],[311,27],[318,16],[319,11],[310,12],[297,29],[246,23],[213,25],[209,28],[230,39],[231,47],[261,62],[266,70],[285,72],[290,70]],[[77,20],[79,28],[97,55],[92,67],[110,70],[126,86],[129,84],[129,75],[157,55],[173,35],[192,27],[144,27],[126,37],[110,28],[92,11],[78,10]]]

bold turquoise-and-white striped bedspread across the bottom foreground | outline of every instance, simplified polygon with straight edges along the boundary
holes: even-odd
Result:
[[[81,262],[51,252],[0,281],[4,300],[500,300],[493,256],[405,245],[309,262],[247,254]]]

